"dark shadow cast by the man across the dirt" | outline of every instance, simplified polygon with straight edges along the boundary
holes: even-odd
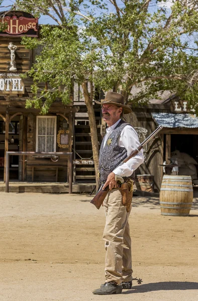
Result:
[[[155,282],[148,284],[141,284],[132,286],[131,290],[123,291],[123,294],[135,293],[135,292],[148,292],[156,290],[186,290],[186,289],[198,289],[198,282],[177,282],[177,281],[165,281]]]

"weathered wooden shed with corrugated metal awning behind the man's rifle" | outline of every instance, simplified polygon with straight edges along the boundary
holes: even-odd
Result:
[[[153,179],[153,191],[159,192],[163,165],[171,163],[169,159],[175,150],[189,155],[194,163],[197,162],[198,118],[187,106],[187,102],[178,99],[175,95],[160,103],[149,103],[147,106],[132,107],[132,109],[133,113],[130,116],[126,115],[126,120],[135,127],[140,142],[157,126],[163,126],[154,139],[144,147],[145,162],[136,171],[136,175],[140,175],[140,182],[143,181],[144,177],[141,177],[143,175],[148,176],[148,184],[152,184]],[[196,163],[195,169],[197,170]],[[139,186],[141,185],[144,187],[144,183],[140,183]]]

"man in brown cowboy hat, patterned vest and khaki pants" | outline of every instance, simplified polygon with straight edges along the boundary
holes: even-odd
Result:
[[[117,180],[119,177],[125,181],[133,179],[134,171],[143,163],[144,156],[141,151],[118,167],[140,145],[133,126],[121,119],[123,113],[131,113],[132,110],[124,104],[124,96],[116,92],[108,92],[104,100],[96,102],[102,105],[103,119],[108,125],[100,149],[100,181],[103,189],[109,185],[110,191],[104,201],[106,225],[103,239],[106,247],[106,282],[100,288],[93,290],[93,293],[113,294],[121,293],[123,288],[131,288],[133,272],[128,223],[131,206],[129,205],[129,210],[123,206],[122,193]]]

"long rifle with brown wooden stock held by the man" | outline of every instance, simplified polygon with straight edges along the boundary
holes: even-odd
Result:
[[[148,141],[150,141],[162,128],[163,128],[163,126],[161,126],[161,125],[158,126],[154,130],[154,132],[152,132],[136,149],[134,149],[133,152],[125,160],[123,160],[117,167],[123,165],[124,163],[129,161],[131,158],[135,157],[140,152],[140,150],[144,147],[144,145],[146,143],[148,143]],[[116,178],[117,178],[117,180],[119,180],[119,178],[122,179],[121,177],[118,177],[118,176]],[[95,207],[97,209],[100,209],[109,190],[110,190],[109,185],[104,190],[103,190],[103,186],[101,186],[101,188],[98,190],[98,192],[96,193],[96,195],[94,196],[92,201],[90,201],[90,203],[95,205]]]

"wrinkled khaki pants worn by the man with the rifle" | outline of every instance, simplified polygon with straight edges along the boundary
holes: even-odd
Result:
[[[109,191],[104,201],[106,225],[103,239],[106,247],[106,282],[132,280],[131,238],[126,206],[119,189]],[[131,211],[131,210],[130,210]]]

